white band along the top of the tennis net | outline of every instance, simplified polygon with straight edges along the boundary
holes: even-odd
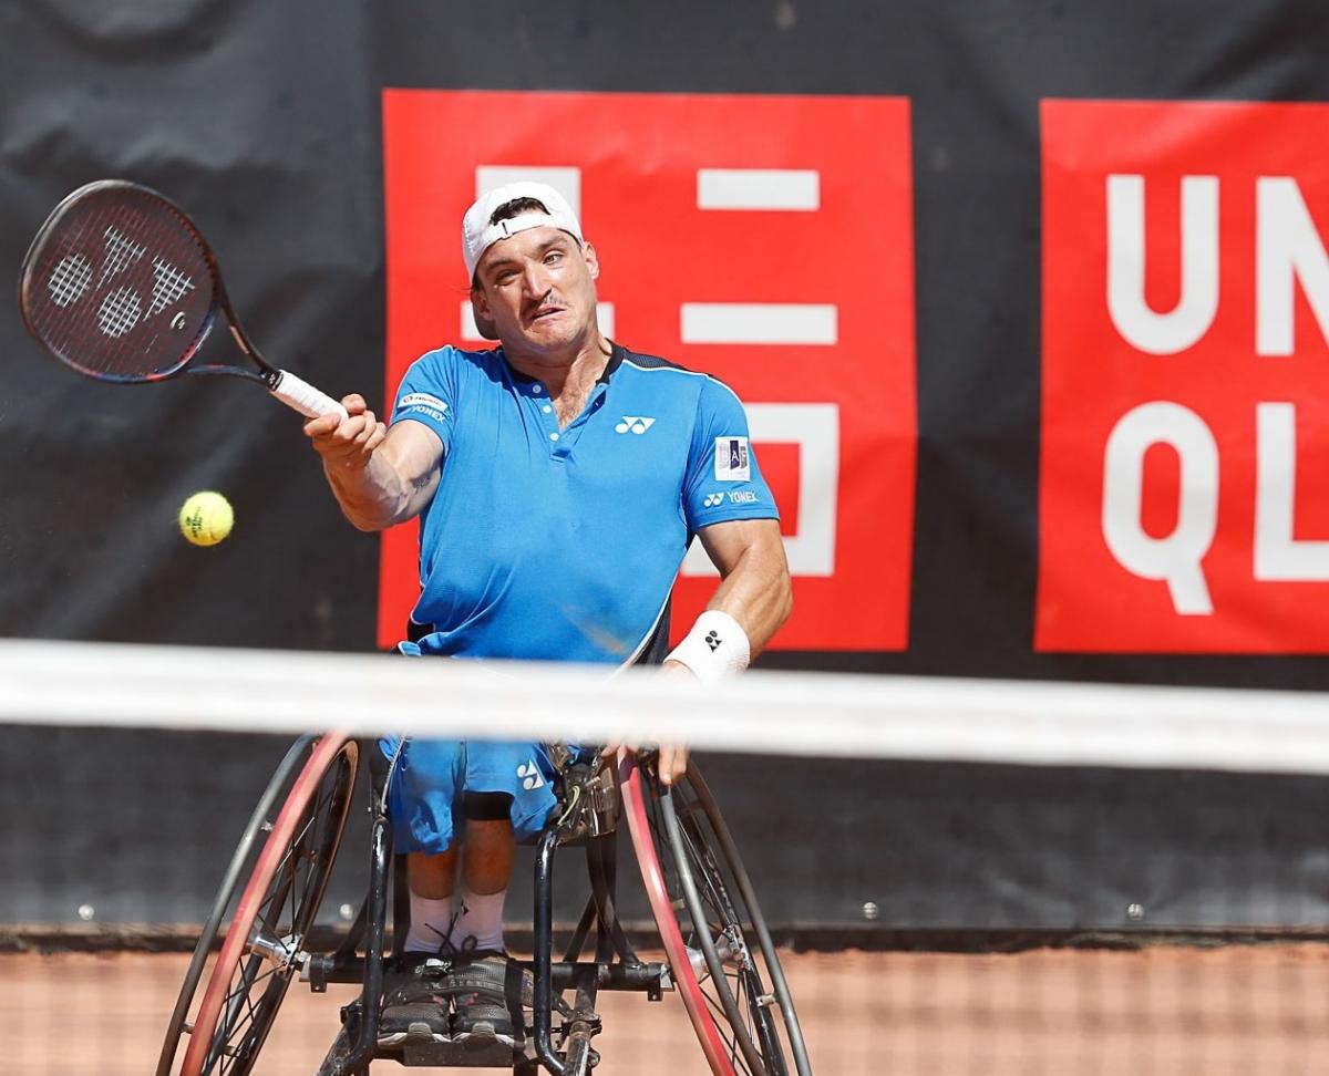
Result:
[[[700,685],[627,670],[384,655],[0,640],[0,721],[396,732],[1026,765],[1329,773],[1320,692],[750,671]]]

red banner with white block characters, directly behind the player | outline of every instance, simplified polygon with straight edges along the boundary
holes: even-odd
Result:
[[[795,612],[773,646],[902,650],[914,485],[909,105],[880,97],[385,90],[387,399],[474,333],[460,222],[518,175],[599,252],[601,327],[724,380],[781,510]],[[383,537],[379,640],[417,594]],[[695,543],[675,636],[716,578]]]

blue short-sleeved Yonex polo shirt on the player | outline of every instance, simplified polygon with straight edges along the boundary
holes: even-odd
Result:
[[[618,344],[565,429],[501,348],[416,360],[392,414],[405,421],[444,446],[405,652],[635,660],[699,529],[779,518],[738,396]]]

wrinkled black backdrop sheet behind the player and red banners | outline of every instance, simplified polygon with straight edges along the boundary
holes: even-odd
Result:
[[[1309,0],[3,0],[0,266],[17,270],[36,224],[77,185],[106,175],[145,182],[189,207],[219,247],[233,298],[264,353],[316,369],[334,393],[373,396],[383,384],[384,88],[905,96],[920,421],[910,646],[902,654],[772,654],[764,663],[1318,688],[1318,659],[1035,654],[1031,624],[1039,100],[1329,100],[1326,35],[1329,9]],[[0,307],[0,635],[373,647],[376,539],[340,519],[298,420],[245,385],[85,383],[39,356],[12,304]],[[185,495],[205,488],[227,490],[241,519],[234,538],[209,551],[183,545],[173,523]],[[13,917],[11,902],[0,903],[0,919],[69,918],[74,890],[105,874],[70,854],[70,833],[80,848],[122,848],[142,813],[124,805],[159,796],[162,768],[185,774],[181,788],[197,797],[171,810],[210,824],[202,838],[173,830],[142,854],[149,863],[178,862],[194,842],[190,855],[221,862],[234,818],[262,786],[258,772],[280,753],[254,740],[218,755],[211,741],[152,733],[9,729],[3,743],[7,829],[27,830],[19,820],[35,818],[32,833],[44,837],[5,846],[0,874],[9,885],[0,895],[15,903]],[[33,759],[43,760],[40,770]],[[785,918],[852,921],[867,899],[881,906],[882,925],[917,918],[920,898],[910,894],[922,877],[934,898],[924,919],[1116,922],[1116,898],[1131,889],[1120,878],[1055,899],[1046,887],[1017,885],[1023,895],[1014,903],[993,899],[1011,879],[1049,870],[1035,853],[1051,834],[1091,822],[1116,849],[1119,874],[1152,871],[1172,919],[1209,917],[1201,909],[1217,875],[1168,867],[1201,840],[1203,826],[1155,834],[1142,848],[1131,825],[1102,809],[1156,800],[1175,780],[985,772],[978,784],[1006,808],[975,826],[960,797],[933,797],[924,810],[904,792],[971,788],[966,769],[924,780],[881,764],[865,768],[849,794],[820,765],[719,766],[728,800],[762,802],[779,774],[795,793],[781,800],[825,826],[823,846],[833,854],[815,873],[795,869],[756,824],[744,838],[773,873],[788,866]],[[86,780],[89,772],[97,780]],[[1249,790],[1228,778],[1188,780],[1192,792],[1204,789],[1200,802]],[[1317,796],[1304,784],[1294,794],[1255,797],[1273,821],[1256,825],[1252,846],[1284,850],[1288,899],[1316,890],[1294,871],[1313,857],[1314,833],[1278,821],[1280,812]],[[98,842],[98,833],[108,840]],[[873,855],[861,855],[865,841]],[[900,862],[902,846],[910,858]],[[1147,862],[1134,862],[1146,853]],[[43,863],[36,873],[32,857]],[[1058,870],[1074,866],[1073,852],[1066,857]],[[901,885],[902,873],[916,881]],[[169,899],[98,903],[120,918],[190,918],[206,879],[162,877],[177,879]],[[994,915],[994,907],[1007,911]],[[1306,913],[1260,898],[1229,915],[1300,921]]]

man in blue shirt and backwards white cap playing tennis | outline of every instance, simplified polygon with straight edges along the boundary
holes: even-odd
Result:
[[[789,615],[777,513],[738,397],[720,381],[606,340],[599,259],[552,187],[509,183],[462,221],[476,324],[500,347],[419,359],[391,425],[358,395],[304,430],[346,517],[383,530],[420,517],[420,600],[408,655],[662,663],[715,680],[742,671]],[[667,651],[668,596],[696,537],[720,584]],[[469,954],[502,982],[502,901],[514,844],[553,796],[538,744],[383,743],[407,853],[405,951]],[[687,765],[661,747],[664,782]],[[460,849],[465,848],[462,854]],[[387,1041],[512,1040],[504,1007],[407,978]]]

